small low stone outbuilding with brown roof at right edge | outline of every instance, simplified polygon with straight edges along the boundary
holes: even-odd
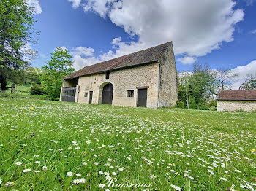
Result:
[[[244,112],[256,110],[256,90],[225,90],[217,97],[218,111]]]

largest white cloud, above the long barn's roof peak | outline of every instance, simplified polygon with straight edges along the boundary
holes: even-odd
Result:
[[[108,16],[127,34],[139,36],[138,42],[120,46],[121,52],[172,40],[176,54],[191,57],[233,41],[235,25],[244,17],[242,9],[234,9],[235,4],[233,0],[89,0],[82,6],[85,11]]]

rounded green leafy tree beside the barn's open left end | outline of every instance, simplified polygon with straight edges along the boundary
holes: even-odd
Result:
[[[55,52],[50,53],[52,56],[50,61],[42,66],[41,83],[45,92],[50,95],[50,98],[56,100],[61,92],[63,78],[72,74],[75,69],[72,68],[73,62],[67,49],[57,47]]]

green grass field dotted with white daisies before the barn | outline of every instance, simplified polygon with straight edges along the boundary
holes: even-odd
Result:
[[[252,113],[0,97],[0,135],[0,190],[256,190]]]

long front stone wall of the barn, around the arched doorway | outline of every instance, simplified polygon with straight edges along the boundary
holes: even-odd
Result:
[[[114,106],[137,106],[137,87],[148,87],[147,106],[157,108],[159,63],[110,71],[110,79],[105,79],[105,73],[80,77],[78,103],[88,104],[89,91],[93,91],[92,104],[101,104],[102,88],[109,82],[113,84]],[[134,90],[134,97],[127,97],[127,90]]]

